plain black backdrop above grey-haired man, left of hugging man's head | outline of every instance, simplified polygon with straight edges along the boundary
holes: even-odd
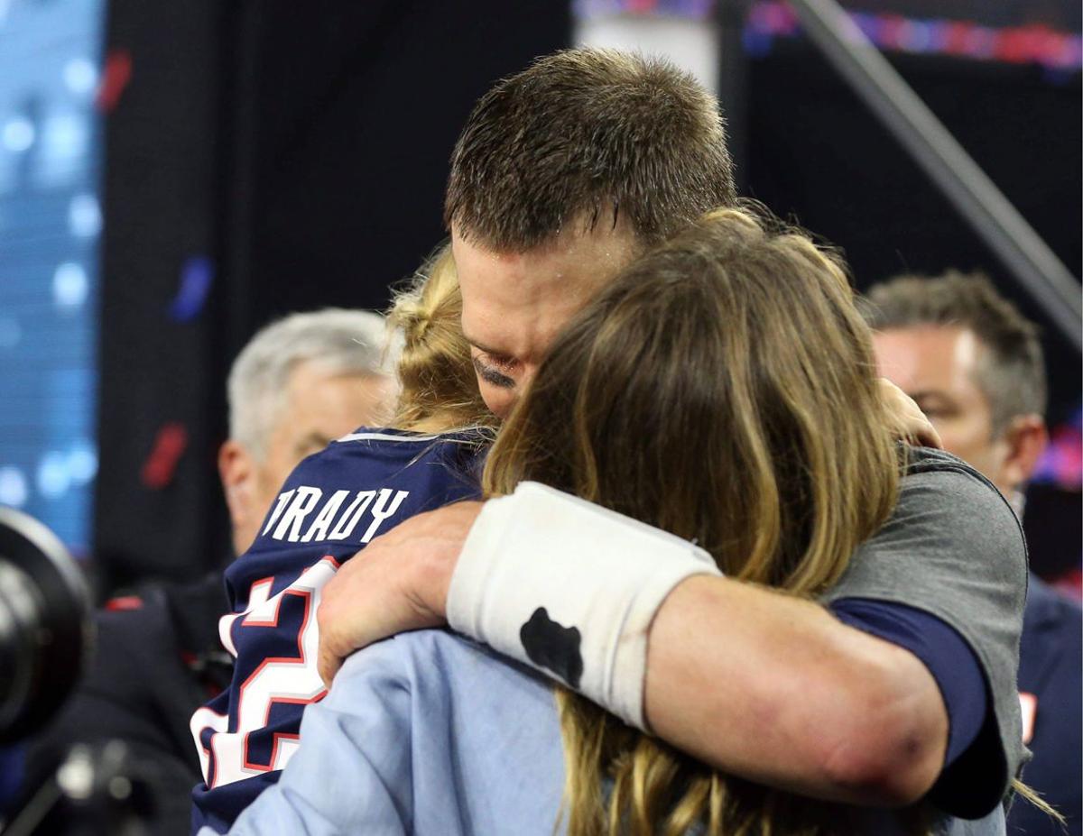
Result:
[[[560,2],[464,9],[245,4],[229,245],[240,331],[314,303],[383,308],[442,239],[447,160],[474,101],[571,27]]]

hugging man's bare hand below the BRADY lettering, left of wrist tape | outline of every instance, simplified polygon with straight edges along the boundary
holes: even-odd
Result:
[[[452,573],[481,509],[481,502],[458,502],[406,520],[328,582],[316,612],[317,666],[328,688],[355,650],[445,623]]]

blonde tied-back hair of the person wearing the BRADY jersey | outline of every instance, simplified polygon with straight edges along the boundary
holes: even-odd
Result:
[[[400,393],[392,426],[452,430],[494,427],[462,336],[462,296],[451,245],[443,245],[395,296],[388,321],[402,335]]]

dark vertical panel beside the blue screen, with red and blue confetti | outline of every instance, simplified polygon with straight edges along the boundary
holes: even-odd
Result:
[[[148,573],[184,576],[219,548],[225,277],[174,304],[185,284],[190,296],[199,289],[185,269],[213,264],[221,240],[224,6],[109,9],[92,552],[103,591]]]

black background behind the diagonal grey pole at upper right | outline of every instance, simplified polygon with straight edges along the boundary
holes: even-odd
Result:
[[[1079,74],[930,55],[892,62],[1079,276]],[[901,272],[989,273],[1046,326],[1049,417],[1066,420],[1079,406],[1079,355],[824,58],[781,41],[749,63],[748,79],[746,193],[843,247],[862,289]]]

